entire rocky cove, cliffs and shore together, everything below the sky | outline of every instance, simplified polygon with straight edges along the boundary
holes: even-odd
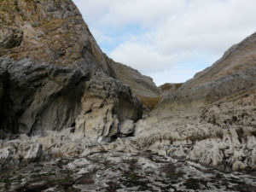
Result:
[[[1,1],[0,191],[256,191],[254,58],[158,88],[71,0]]]

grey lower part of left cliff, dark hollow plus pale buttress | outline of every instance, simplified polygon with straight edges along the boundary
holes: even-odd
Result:
[[[37,135],[71,126],[79,131],[86,121],[84,134],[98,139],[115,136],[119,121],[142,115],[142,105],[127,85],[100,72],[90,77],[86,63],[61,67],[28,60],[0,62],[9,74],[2,106],[5,131]]]

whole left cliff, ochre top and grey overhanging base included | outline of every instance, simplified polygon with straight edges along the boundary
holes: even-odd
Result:
[[[1,1],[0,56],[0,137],[75,127],[110,141],[119,123],[142,116],[71,0]]]

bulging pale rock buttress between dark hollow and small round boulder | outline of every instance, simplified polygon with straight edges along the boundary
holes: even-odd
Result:
[[[101,75],[95,77],[86,83],[76,128],[86,137],[111,140],[119,132],[119,123],[137,121],[142,116],[142,104],[126,84],[111,78],[104,80]]]

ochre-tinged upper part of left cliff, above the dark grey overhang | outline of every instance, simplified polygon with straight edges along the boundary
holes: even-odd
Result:
[[[1,1],[0,56],[31,58],[61,66],[94,63],[114,79],[129,84],[137,96],[160,94],[152,79],[102,53],[79,9],[65,1]]]

